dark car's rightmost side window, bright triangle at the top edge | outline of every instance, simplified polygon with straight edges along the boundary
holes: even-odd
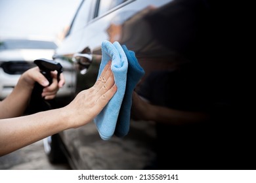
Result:
[[[100,0],[98,5],[98,16],[104,14],[108,10],[120,5],[127,0]]]

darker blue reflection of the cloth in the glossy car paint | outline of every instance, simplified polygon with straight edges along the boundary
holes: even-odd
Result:
[[[135,52],[128,50],[125,45],[122,45],[122,48],[128,59],[128,71],[125,95],[123,97],[123,103],[121,104],[114,133],[117,137],[124,137],[129,132],[133,90],[145,73],[135,57]]]

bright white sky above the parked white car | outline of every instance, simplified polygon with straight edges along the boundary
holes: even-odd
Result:
[[[0,0],[0,37],[56,36],[70,25],[81,0]]]

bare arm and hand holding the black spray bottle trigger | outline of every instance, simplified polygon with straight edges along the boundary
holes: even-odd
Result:
[[[45,87],[42,93],[45,99],[53,99],[58,89],[61,88],[65,82],[62,74],[60,75],[60,82],[58,82],[56,74],[56,72],[52,73],[53,83],[51,86],[48,86],[48,80],[39,72],[38,67],[29,69],[22,74],[12,93],[0,103],[0,119],[13,118],[23,114],[30,101],[35,82]]]

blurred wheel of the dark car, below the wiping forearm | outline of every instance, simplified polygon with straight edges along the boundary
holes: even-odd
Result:
[[[51,163],[66,163],[67,159],[60,148],[60,137],[58,135],[52,135],[43,139],[43,147],[45,153]]]

